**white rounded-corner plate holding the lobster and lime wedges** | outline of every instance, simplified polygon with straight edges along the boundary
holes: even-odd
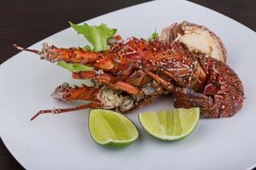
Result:
[[[140,139],[122,150],[104,148],[90,139],[88,110],[60,116],[29,118],[38,110],[69,107],[49,94],[62,82],[73,82],[61,67],[21,52],[0,67],[1,138],[20,164],[27,169],[245,169],[256,163],[255,44],[256,34],[235,20],[186,1],[154,1],[102,15],[89,24],[107,23],[123,37],[148,37],[172,22],[189,20],[208,26],[227,47],[228,64],[244,84],[243,108],[231,118],[200,120],[188,138],[164,143],[146,134],[137,120]],[[29,36],[29,35],[27,35]],[[69,28],[43,42],[59,47],[83,46],[82,36]],[[15,50],[15,49],[14,49]],[[145,110],[172,107],[160,99]]]

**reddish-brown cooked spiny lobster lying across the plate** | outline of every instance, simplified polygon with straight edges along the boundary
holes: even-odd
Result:
[[[223,61],[192,50],[175,38],[172,42],[170,38],[150,42],[136,37],[125,41],[119,36],[113,39],[110,49],[102,52],[56,48],[47,43],[41,51],[14,45],[50,62],[66,61],[94,67],[94,71],[73,72],[75,79],[90,78],[91,86],[70,86],[65,82],[51,94],[66,102],[79,99],[90,100],[90,103],[39,111],[31,120],[41,114],[86,108],[129,112],[150,104],[162,94],[172,94],[177,108],[200,107],[201,117],[205,118],[233,116],[241,109],[244,99],[241,80]]]

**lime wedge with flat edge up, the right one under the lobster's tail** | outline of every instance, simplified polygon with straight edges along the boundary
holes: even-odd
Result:
[[[148,111],[139,114],[139,121],[149,134],[168,141],[188,136],[196,127],[199,118],[199,108]]]

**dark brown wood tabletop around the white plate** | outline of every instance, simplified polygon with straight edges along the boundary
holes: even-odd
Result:
[[[256,31],[256,0],[191,0],[225,14]],[[119,8],[148,0],[1,0],[0,64],[18,53],[13,42],[27,47],[68,27]],[[23,169],[0,139],[0,169]]]

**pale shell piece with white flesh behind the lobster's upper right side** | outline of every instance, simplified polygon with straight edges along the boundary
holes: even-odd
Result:
[[[162,30],[160,40],[169,44],[174,41],[183,42],[190,50],[208,54],[224,63],[227,60],[227,51],[224,43],[206,26],[196,25],[187,21],[183,21],[180,24],[173,23]]]

